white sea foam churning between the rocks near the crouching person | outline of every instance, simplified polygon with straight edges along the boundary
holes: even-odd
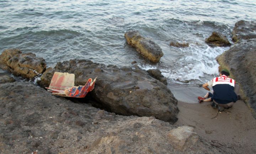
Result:
[[[215,47],[211,48],[206,46],[205,49],[202,46],[190,45],[185,53],[190,53],[177,59],[173,67],[160,68],[162,75],[173,81],[185,81],[185,80],[202,80],[205,75],[218,74],[219,64],[216,61],[216,57],[222,54],[228,48]],[[139,67],[149,70],[156,69],[156,66],[151,65],[139,65]]]

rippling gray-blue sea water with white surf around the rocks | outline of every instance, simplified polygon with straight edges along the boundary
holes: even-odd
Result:
[[[218,74],[215,58],[229,49],[204,40],[217,31],[231,42],[235,23],[255,20],[255,10],[255,0],[0,0],[0,53],[9,48],[32,52],[47,67],[70,59],[118,67],[136,61],[143,69],[160,69],[175,95],[186,87],[193,95],[194,88]],[[158,64],[127,44],[124,33],[130,30],[160,46],[164,56]]]

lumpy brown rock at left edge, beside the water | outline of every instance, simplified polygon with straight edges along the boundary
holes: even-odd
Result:
[[[7,49],[0,55],[0,68],[32,79],[46,70],[46,62],[33,53],[22,54],[19,49]]]

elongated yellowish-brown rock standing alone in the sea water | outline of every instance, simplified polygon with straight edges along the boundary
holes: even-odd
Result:
[[[144,58],[151,62],[159,62],[164,55],[159,45],[148,38],[142,37],[138,31],[126,32],[124,37],[129,45],[134,46]]]

